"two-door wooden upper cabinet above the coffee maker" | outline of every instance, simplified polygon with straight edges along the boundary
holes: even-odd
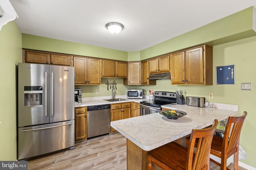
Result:
[[[100,59],[74,57],[75,85],[100,84]]]

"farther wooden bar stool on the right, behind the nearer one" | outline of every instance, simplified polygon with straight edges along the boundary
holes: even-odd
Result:
[[[221,158],[221,164],[215,160],[210,159],[212,162],[220,166],[221,170],[226,170],[227,159],[234,154],[234,170],[238,170],[238,155],[239,155],[239,139],[241,129],[244,123],[244,119],[247,116],[247,112],[244,111],[242,116],[228,117],[224,137],[213,136],[212,146],[210,153],[214,156]],[[186,144],[188,146],[190,137],[186,138]],[[195,147],[197,145],[197,141]]]

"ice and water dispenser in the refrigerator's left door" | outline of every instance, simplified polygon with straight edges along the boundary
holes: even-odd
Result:
[[[42,86],[24,86],[24,107],[38,107],[42,105]]]

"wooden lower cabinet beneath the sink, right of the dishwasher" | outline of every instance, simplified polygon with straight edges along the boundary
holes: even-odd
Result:
[[[131,102],[110,104],[111,117],[110,121],[127,119],[131,117]],[[116,132],[116,129],[111,127],[110,133]]]

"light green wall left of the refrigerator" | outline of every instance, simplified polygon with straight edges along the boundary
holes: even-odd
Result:
[[[22,62],[21,33],[14,21],[0,31],[0,160],[16,160],[16,65]]]

